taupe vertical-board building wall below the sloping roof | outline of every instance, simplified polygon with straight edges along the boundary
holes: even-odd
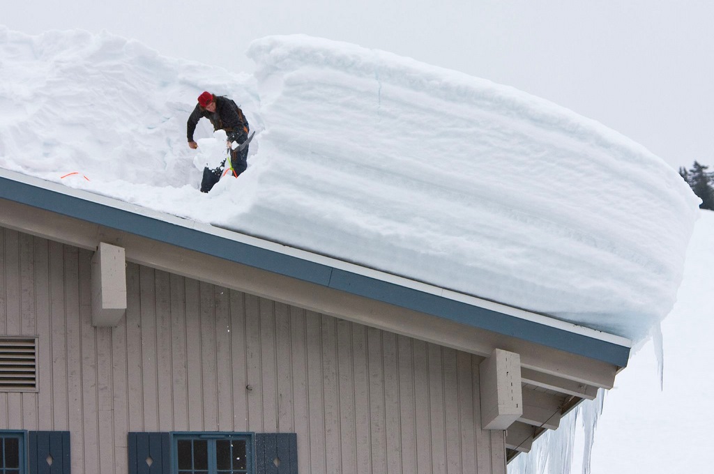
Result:
[[[39,336],[39,391],[0,429],[69,430],[73,473],[127,473],[129,431],[297,433],[301,473],[505,473],[481,358],[127,263],[91,326],[92,253],[0,228],[0,335]]]

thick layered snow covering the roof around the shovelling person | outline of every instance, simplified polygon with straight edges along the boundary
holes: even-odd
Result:
[[[236,76],[0,28],[0,166],[635,340],[673,307],[698,198],[637,143],[383,51],[276,36],[248,55]],[[256,131],[208,194],[225,135],[185,135],[203,90]]]

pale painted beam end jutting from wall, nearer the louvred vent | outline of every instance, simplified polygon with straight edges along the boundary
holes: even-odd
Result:
[[[124,248],[100,243],[91,259],[91,309],[94,326],[113,327],[126,314]]]

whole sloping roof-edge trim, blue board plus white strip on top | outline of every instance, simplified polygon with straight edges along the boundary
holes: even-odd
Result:
[[[620,336],[1,168],[0,198],[618,367],[632,347]]]

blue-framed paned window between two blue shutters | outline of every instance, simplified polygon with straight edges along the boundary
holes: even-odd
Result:
[[[174,433],[174,473],[247,474],[252,461],[250,434]]]

